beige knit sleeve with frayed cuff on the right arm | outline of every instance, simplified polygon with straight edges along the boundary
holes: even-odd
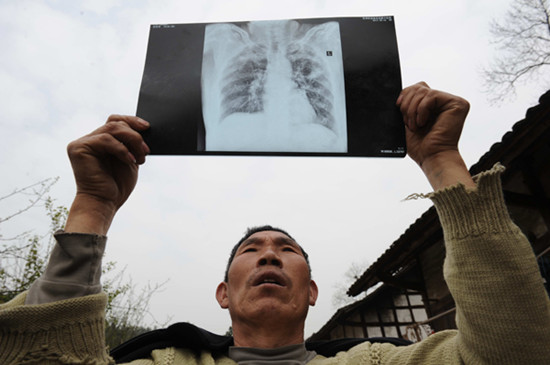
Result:
[[[504,203],[503,167],[478,175],[477,188],[433,193],[445,238],[444,277],[458,331],[405,348],[384,347],[388,364],[548,364],[550,301],[527,238]]]

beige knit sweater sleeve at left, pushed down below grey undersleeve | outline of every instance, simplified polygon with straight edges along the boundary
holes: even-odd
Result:
[[[24,305],[26,295],[0,305],[0,364],[114,363],[105,347],[105,294]]]

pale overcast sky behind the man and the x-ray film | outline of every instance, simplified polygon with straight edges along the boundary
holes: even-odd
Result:
[[[70,206],[66,145],[134,114],[150,24],[394,15],[403,85],[426,81],[471,103],[460,150],[468,166],[500,141],[542,87],[523,85],[492,106],[480,70],[496,50],[489,23],[508,1],[8,1],[0,0],[0,196],[59,177],[51,196]],[[369,35],[365,35],[366,37]],[[166,282],[149,323],[189,321],[224,333],[229,315],[215,288],[246,227],[285,228],[308,251],[320,288],[306,336],[334,314],[332,293],[352,262],[374,262],[431,203],[410,160],[341,157],[149,156],[109,232],[106,261],[138,286]],[[0,201],[0,217],[21,201]],[[44,232],[34,210],[9,230]]]

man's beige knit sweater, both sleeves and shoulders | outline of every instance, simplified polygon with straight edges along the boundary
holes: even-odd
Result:
[[[447,257],[444,275],[457,305],[458,331],[406,346],[358,345],[310,364],[550,364],[550,301],[527,239],[509,218],[500,172],[477,177],[478,188],[436,192]],[[0,306],[0,364],[109,364],[104,346],[104,294]],[[210,353],[155,350],[132,364],[234,364]]]

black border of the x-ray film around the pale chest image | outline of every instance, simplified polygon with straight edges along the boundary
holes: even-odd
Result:
[[[204,151],[201,67],[208,24],[152,25],[137,116],[154,155],[270,155],[403,157],[405,129],[395,101],[401,72],[393,16],[295,19],[340,26],[344,65],[348,152]],[[246,22],[225,22],[242,24]]]

